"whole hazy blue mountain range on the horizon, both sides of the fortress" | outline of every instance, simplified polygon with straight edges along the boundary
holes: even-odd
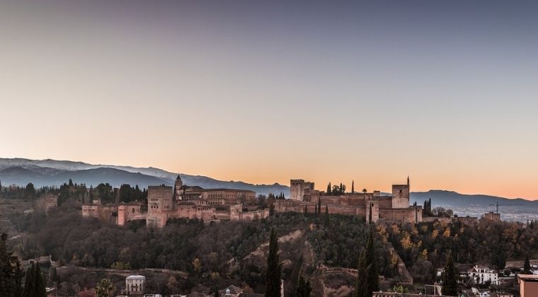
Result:
[[[76,183],[96,186],[108,182],[114,187],[122,184],[147,187],[149,185],[173,185],[177,173],[170,173],[159,168],[135,168],[121,165],[93,165],[74,161],[29,160],[25,158],[0,158],[0,181],[2,185],[27,185],[32,182],[35,187],[47,185],[62,185],[69,179]],[[203,188],[227,188],[251,190],[258,194],[284,193],[290,196],[290,187],[286,185],[253,185],[247,182],[215,180],[202,175],[180,174],[183,184],[198,185]],[[459,194],[445,190],[430,190],[428,192],[412,192],[411,203],[422,205],[427,199],[432,199],[433,206],[443,206],[454,209],[462,214],[495,211],[498,203],[500,209],[515,209],[515,211],[538,209],[538,201],[526,199],[507,199],[483,194]],[[471,211],[474,209],[474,211]]]

